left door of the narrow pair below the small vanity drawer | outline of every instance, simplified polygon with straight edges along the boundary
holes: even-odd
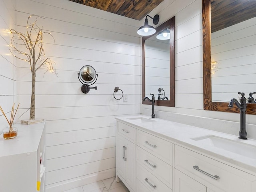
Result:
[[[125,178],[126,169],[126,163],[124,161],[125,142],[125,138],[120,135],[116,136],[116,170],[123,178]]]

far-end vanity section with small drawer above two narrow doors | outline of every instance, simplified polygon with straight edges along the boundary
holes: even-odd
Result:
[[[136,191],[135,140],[136,129],[118,122],[116,136],[116,176],[130,192]]]

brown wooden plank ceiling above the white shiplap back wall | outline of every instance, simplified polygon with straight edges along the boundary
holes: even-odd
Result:
[[[114,14],[142,20],[163,0],[69,0]],[[154,17],[151,16],[151,17]]]

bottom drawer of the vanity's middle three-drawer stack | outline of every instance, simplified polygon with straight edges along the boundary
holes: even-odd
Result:
[[[164,183],[158,178],[148,172],[140,164],[137,164],[137,179],[150,191],[154,192],[172,192]],[[140,191],[138,191],[140,192]]]

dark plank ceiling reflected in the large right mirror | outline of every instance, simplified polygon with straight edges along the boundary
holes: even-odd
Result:
[[[256,17],[256,0],[211,0],[211,28],[223,28]]]

